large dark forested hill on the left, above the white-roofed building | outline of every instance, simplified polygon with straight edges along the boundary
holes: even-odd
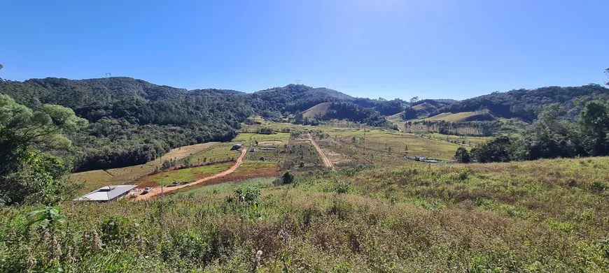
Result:
[[[90,122],[69,135],[76,170],[146,163],[174,147],[231,140],[253,115],[245,96],[230,90],[187,91],[132,78],[25,82],[0,80],[0,94],[34,110],[71,108]]]

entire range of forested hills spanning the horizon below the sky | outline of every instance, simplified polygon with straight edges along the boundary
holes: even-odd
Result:
[[[312,115],[300,117],[297,122],[349,119],[388,128],[391,124],[386,117],[391,116],[392,121],[402,116],[412,119],[412,115],[400,115],[406,111],[415,112],[414,118],[424,115],[462,121],[479,119],[472,112],[489,110],[493,114],[482,118],[519,117],[531,121],[545,105],[560,103],[564,117],[574,119],[585,102],[608,96],[609,89],[598,84],[520,89],[456,102],[422,100],[412,103],[412,108],[400,99],[356,98],[303,84],[244,93],[230,89],[187,90],[127,77],[0,80],[0,94],[32,109],[43,104],[63,105],[87,119],[90,125],[85,131],[69,135],[73,142],[70,154],[76,170],[94,170],[146,163],[184,145],[232,140],[241,122],[255,114],[283,120],[312,108]]]

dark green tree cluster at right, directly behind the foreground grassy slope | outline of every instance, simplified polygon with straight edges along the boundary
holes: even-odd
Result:
[[[609,100],[586,103],[575,121],[559,119],[564,109],[547,105],[521,138],[501,136],[471,151],[460,147],[458,162],[489,163],[539,158],[573,158],[609,155]]]

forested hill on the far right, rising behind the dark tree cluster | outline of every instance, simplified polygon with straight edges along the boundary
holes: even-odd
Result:
[[[563,108],[561,116],[574,120],[587,101],[608,95],[609,89],[599,84],[588,84],[581,87],[518,89],[507,92],[493,92],[492,94],[457,101],[435,110],[430,116],[442,112],[472,112],[488,108],[493,114],[500,117],[519,117],[532,121],[537,119],[546,105],[559,103]]]

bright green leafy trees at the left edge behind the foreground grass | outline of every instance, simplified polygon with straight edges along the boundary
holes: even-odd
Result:
[[[71,164],[49,152],[69,148],[64,133],[86,124],[69,108],[34,111],[0,94],[0,203],[56,202]]]

